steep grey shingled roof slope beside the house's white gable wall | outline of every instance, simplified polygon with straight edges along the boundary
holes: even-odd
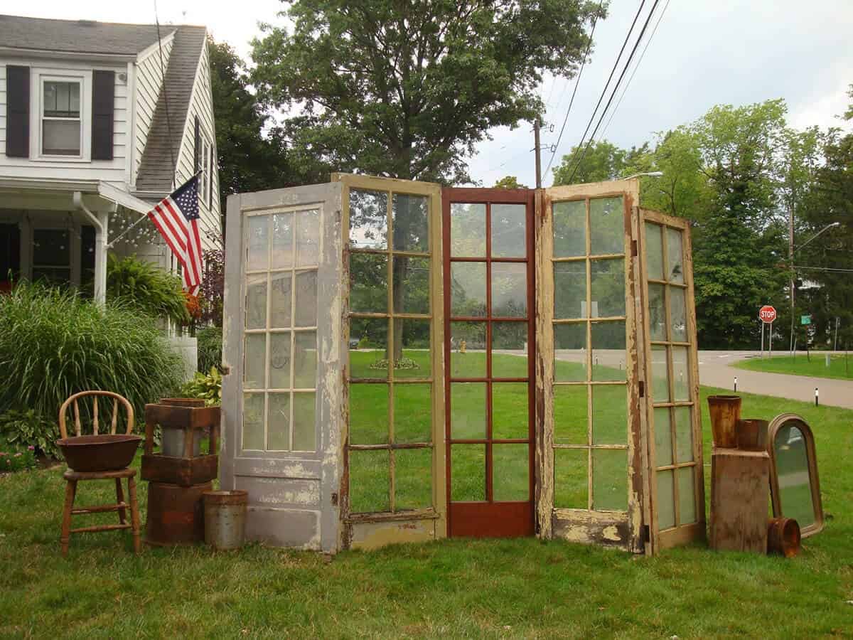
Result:
[[[157,97],[157,108],[154,110],[148,141],[145,143],[139,173],[136,175],[137,191],[157,191],[165,195],[172,189],[172,177],[175,175],[189,101],[193,95],[195,72],[205,46],[206,32],[204,26],[177,27],[171,45],[169,67],[165,72],[166,90],[161,90],[160,96]]]

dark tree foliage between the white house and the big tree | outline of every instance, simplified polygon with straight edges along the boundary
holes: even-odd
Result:
[[[229,194],[324,179],[322,166],[288,153],[286,132],[270,126],[234,49],[209,40],[208,53],[223,214]]]

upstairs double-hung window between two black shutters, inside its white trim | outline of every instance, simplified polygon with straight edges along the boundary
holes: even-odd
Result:
[[[80,80],[45,79],[42,87],[42,154],[81,154]]]

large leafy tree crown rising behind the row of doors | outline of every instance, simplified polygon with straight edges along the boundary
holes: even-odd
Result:
[[[471,182],[464,162],[491,127],[543,111],[543,72],[572,77],[604,9],[533,3],[297,0],[293,32],[266,27],[252,82],[299,107],[295,148],[340,171]]]

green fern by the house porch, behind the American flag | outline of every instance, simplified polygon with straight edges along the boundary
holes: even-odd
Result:
[[[189,324],[181,279],[132,256],[107,256],[107,300],[122,302],[148,316]]]

